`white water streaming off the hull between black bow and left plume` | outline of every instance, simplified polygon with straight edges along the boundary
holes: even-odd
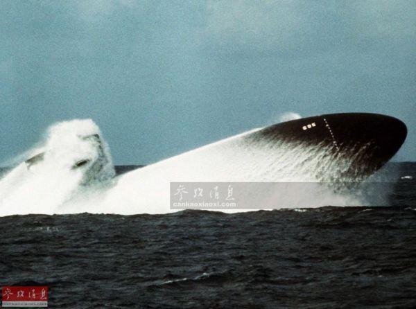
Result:
[[[255,130],[254,130],[255,132]],[[276,208],[363,205],[363,201],[333,186],[349,162],[333,160],[329,149],[295,143],[256,141],[253,131],[130,172],[110,189],[104,205],[123,205],[123,214],[168,213],[171,182],[281,182],[270,195]],[[342,180],[341,180],[342,179]],[[298,183],[308,182],[299,192]],[[304,186],[305,187],[305,186]],[[241,196],[240,196],[241,197]],[[253,209],[227,209],[228,213],[258,210],[257,195],[243,196]],[[138,202],[139,201],[139,202]]]

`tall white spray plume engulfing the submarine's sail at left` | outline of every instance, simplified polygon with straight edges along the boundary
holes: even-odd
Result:
[[[89,119],[52,125],[28,160],[0,180],[1,215],[58,213],[87,187],[110,182],[114,167],[100,136]]]

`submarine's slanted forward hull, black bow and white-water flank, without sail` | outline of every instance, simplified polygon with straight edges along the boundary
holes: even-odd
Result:
[[[167,213],[173,211],[171,184],[255,182],[286,186],[267,193],[277,207],[310,204],[309,195],[323,186],[336,193],[345,184],[363,182],[397,153],[406,135],[402,121],[381,114],[324,114],[277,123],[124,173],[105,202],[126,205],[123,214]],[[262,209],[259,191],[240,197]]]

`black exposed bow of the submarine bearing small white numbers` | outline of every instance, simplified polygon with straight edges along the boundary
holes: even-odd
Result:
[[[380,114],[326,114],[271,125],[248,136],[320,148],[338,165],[336,179],[363,179],[390,160],[406,139],[406,125]],[[333,169],[333,167],[331,167]],[[333,179],[329,179],[333,180]]]

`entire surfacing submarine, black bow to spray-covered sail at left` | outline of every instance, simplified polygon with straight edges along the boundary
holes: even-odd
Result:
[[[170,203],[173,183],[254,182],[282,185],[284,189],[267,192],[275,207],[348,206],[332,197],[312,199],[320,202],[313,204],[311,195],[320,195],[323,187],[331,193],[338,184],[364,181],[397,153],[406,135],[406,125],[392,116],[323,114],[255,128],[117,175],[96,124],[90,119],[66,121],[51,127],[44,147],[1,179],[0,204],[20,205],[17,213],[31,213],[21,202],[30,200],[48,204],[48,213],[71,213],[82,209],[71,208],[71,200],[91,193],[104,213],[168,213],[177,211]],[[44,185],[45,179],[51,183]],[[25,197],[26,187],[37,188],[31,189],[37,194]],[[250,194],[241,193],[240,198],[254,210],[262,209],[259,191]]]

